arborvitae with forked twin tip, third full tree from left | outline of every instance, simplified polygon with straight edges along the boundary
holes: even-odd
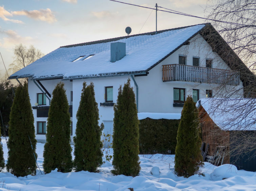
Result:
[[[74,167],[76,171],[96,172],[102,165],[101,131],[98,124],[99,109],[95,101],[94,85],[83,83],[80,104],[76,114]]]

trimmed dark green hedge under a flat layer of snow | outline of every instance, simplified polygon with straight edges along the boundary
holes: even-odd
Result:
[[[140,154],[175,154],[180,119],[140,120]]]

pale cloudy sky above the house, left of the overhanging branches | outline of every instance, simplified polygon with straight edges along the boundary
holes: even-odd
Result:
[[[120,0],[206,17],[206,0]],[[209,2],[208,2],[209,3]],[[163,8],[159,8],[166,10]],[[157,30],[205,23],[204,19],[157,11]],[[22,43],[48,54],[60,46],[156,30],[156,11],[110,0],[0,0],[0,52],[6,68]],[[5,75],[0,58],[0,78]],[[11,75],[11,72],[9,72]]]

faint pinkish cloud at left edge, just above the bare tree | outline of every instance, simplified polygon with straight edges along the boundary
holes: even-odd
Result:
[[[20,36],[17,34],[17,32],[13,31],[13,30],[4,30],[4,31],[0,31],[0,34],[3,34],[7,37],[3,37],[3,43],[0,42],[0,46],[3,48],[13,48],[14,45],[17,44],[32,44],[34,39],[30,36]],[[1,39],[0,39],[1,40]]]

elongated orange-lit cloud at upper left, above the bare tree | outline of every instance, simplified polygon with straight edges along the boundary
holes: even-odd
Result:
[[[13,15],[24,15],[35,20],[46,21],[48,23],[53,23],[57,21],[51,9],[40,9],[40,10],[21,10],[12,11]]]

